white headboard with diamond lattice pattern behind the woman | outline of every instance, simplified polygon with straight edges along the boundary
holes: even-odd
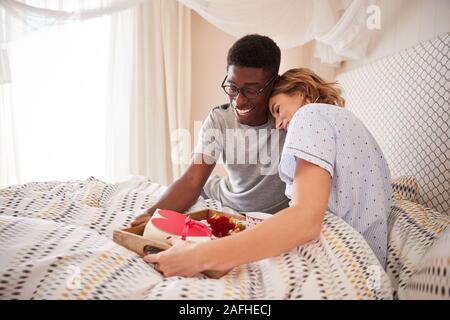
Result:
[[[347,108],[383,150],[392,178],[413,176],[418,202],[450,214],[450,35],[338,75]]]

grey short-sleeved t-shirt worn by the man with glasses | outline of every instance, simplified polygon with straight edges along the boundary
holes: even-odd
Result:
[[[276,213],[288,207],[285,184],[278,175],[285,137],[275,129],[272,117],[251,127],[239,123],[228,104],[211,110],[193,153],[203,154],[210,163],[221,160],[228,176],[210,177],[206,195],[239,212]]]

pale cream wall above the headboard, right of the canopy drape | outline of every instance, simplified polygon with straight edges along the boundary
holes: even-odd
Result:
[[[344,63],[338,73],[450,31],[449,0],[379,0],[378,5],[381,30],[373,31],[366,58]]]

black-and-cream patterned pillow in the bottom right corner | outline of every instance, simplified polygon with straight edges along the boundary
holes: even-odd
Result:
[[[424,255],[408,283],[398,290],[400,299],[450,300],[450,229],[446,229]]]

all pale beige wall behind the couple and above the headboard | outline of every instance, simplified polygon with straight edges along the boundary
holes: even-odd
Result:
[[[280,73],[306,66],[326,78],[399,50],[427,41],[450,31],[450,0],[379,0],[381,30],[373,31],[367,57],[344,63],[333,69],[321,65],[312,57],[313,44],[282,50]],[[228,49],[237,38],[219,30],[192,11],[192,136],[196,134],[194,121],[202,121],[212,107],[227,102],[220,88],[226,74]],[[223,174],[220,167],[216,173]]]

